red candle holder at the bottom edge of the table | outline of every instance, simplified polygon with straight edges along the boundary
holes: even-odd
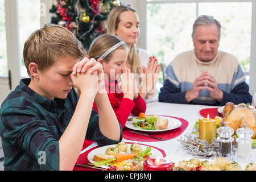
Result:
[[[164,158],[150,158],[144,161],[143,170],[144,171],[172,171],[174,163],[170,160]]]

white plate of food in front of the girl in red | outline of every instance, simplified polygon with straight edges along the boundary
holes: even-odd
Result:
[[[127,121],[125,126],[131,130],[137,130],[137,131],[148,131],[148,132],[161,132],[161,131],[168,131],[168,130],[174,130],[177,127],[181,126],[181,122],[178,119],[175,118],[171,118],[171,117],[164,117],[164,116],[160,116],[158,115],[158,117],[163,118],[163,119],[168,119],[168,126],[167,129],[164,130],[143,130],[143,129],[139,129],[138,127],[135,127],[133,125],[133,121]]]

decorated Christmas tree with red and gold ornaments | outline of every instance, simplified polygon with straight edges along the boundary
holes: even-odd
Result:
[[[86,50],[93,40],[106,33],[106,19],[119,0],[56,0],[50,13],[51,23],[68,28]]]

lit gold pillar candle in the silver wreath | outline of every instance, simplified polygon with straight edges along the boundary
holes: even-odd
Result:
[[[199,119],[199,139],[207,140],[212,143],[213,138],[216,138],[216,120],[209,118]]]

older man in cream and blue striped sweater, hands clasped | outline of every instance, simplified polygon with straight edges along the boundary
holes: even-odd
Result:
[[[221,24],[201,15],[193,24],[194,49],[180,53],[166,68],[159,101],[222,106],[251,103],[252,96],[236,57],[218,51]]]

